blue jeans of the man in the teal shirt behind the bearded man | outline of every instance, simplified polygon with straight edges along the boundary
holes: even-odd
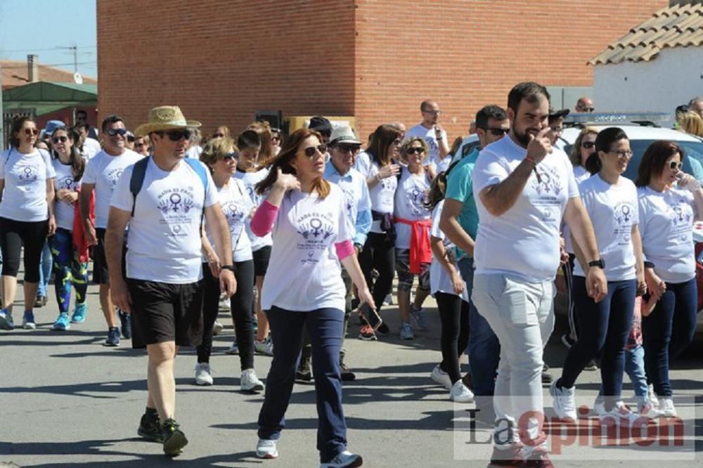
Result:
[[[463,257],[458,261],[461,278],[466,282],[469,297],[474,285],[474,259]],[[496,388],[501,344],[485,318],[477,311],[474,301],[469,303],[469,355],[471,382],[476,396],[493,396]]]

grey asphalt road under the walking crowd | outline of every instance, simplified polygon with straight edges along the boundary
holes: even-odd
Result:
[[[20,287],[21,295],[21,287]],[[51,296],[53,297],[53,290]],[[18,298],[19,301],[20,298]],[[356,339],[358,325],[350,326],[347,363],[356,371],[356,382],[344,386],[349,449],[361,453],[368,467],[485,467],[490,445],[467,443],[486,440],[487,427],[470,433],[464,427],[473,405],[453,405],[448,391],[430,380],[440,358],[439,316],[434,301],[427,301],[432,318],[429,332],[416,330],[413,341],[401,342],[396,309],[385,309],[392,334],[379,342]],[[21,306],[15,322],[21,323]],[[176,362],[176,415],[190,443],[174,460],[162,455],[161,446],[136,436],[146,403],[146,356],[132,350],[129,340],[120,348],[105,348],[105,324],[98,304],[97,287],[89,290],[86,323],[67,332],[52,332],[56,303],[35,311],[39,329],[0,331],[0,466],[19,467],[315,467],[316,409],[314,386],[296,384],[288,409],[288,427],[278,443],[280,458],[254,457],[257,415],[262,394],[242,394],[237,356],[224,353],[233,339],[231,319],[216,337],[212,367],[215,384],[193,383],[195,355],[185,350]],[[558,337],[563,320],[546,349],[546,362],[558,375],[565,349]],[[703,394],[703,339],[699,337],[676,364],[673,386],[679,396]],[[259,377],[265,379],[270,359],[255,358]],[[463,370],[467,369],[464,359]],[[626,379],[627,381],[627,379]],[[599,373],[583,372],[577,394],[590,404],[598,390]],[[545,403],[551,404],[545,388]],[[629,384],[624,396],[632,395]],[[685,400],[685,398],[684,398]],[[557,467],[638,466],[667,468],[703,466],[702,406],[694,399],[677,401],[685,413],[684,448],[593,448],[578,444],[562,448],[554,457]],[[579,403],[581,399],[579,399]],[[688,415],[688,416],[686,416]],[[568,445],[568,444],[567,444]],[[655,444],[656,445],[656,444]],[[667,451],[669,450],[669,451]],[[652,461],[654,460],[654,461]],[[146,464],[145,464],[146,463]]]

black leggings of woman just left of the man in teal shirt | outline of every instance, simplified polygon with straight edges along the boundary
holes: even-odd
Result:
[[[441,321],[441,363],[451,383],[461,379],[459,357],[469,344],[469,303],[456,294],[434,294]]]

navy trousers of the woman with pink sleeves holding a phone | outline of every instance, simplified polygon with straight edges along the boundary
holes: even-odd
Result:
[[[259,412],[259,438],[280,438],[285,427],[285,410],[295,381],[302,349],[303,329],[312,344],[312,370],[317,400],[317,449],[321,462],[328,462],[347,450],[347,424],[342,410],[340,350],[344,311],[318,308],[315,311],[286,311],[273,306],[266,311],[271,325],[273,360],[266,378],[264,405]]]

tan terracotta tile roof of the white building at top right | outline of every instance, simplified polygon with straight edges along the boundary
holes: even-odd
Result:
[[[588,63],[600,65],[625,61],[649,61],[664,48],[703,46],[703,4],[685,4],[662,8],[652,18],[633,27],[592,58]]]

